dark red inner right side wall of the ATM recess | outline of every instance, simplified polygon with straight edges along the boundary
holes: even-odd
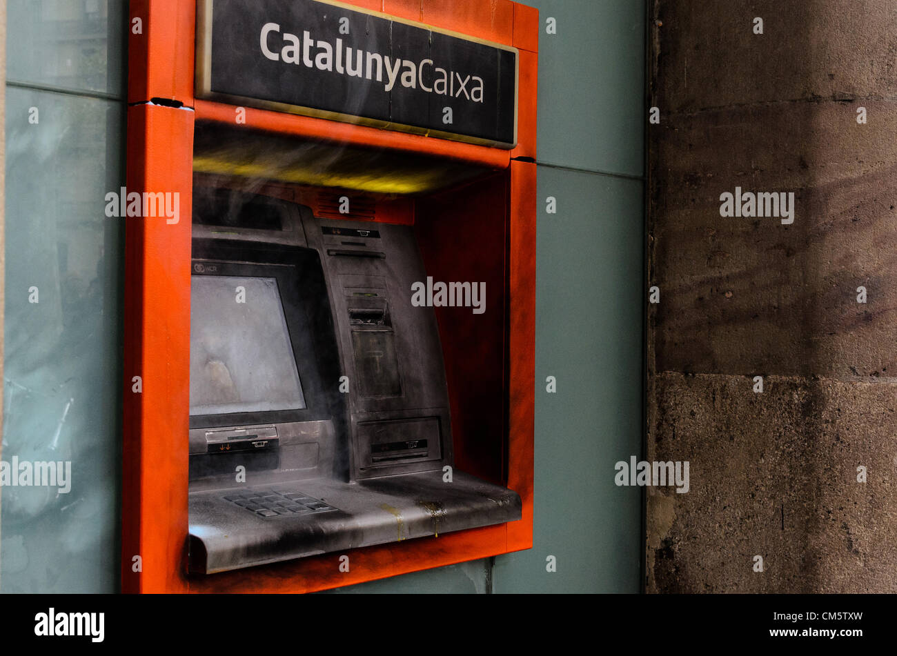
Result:
[[[478,281],[483,315],[435,307],[451,407],[455,467],[503,484],[508,430],[509,170],[418,201],[414,229],[435,281]]]

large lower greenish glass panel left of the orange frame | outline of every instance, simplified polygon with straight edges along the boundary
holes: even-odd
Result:
[[[6,90],[2,458],[19,483],[63,464],[0,488],[0,591],[118,587],[125,226],[104,196],[124,184],[124,124],[118,102]]]

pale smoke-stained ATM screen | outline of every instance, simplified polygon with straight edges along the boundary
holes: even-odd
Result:
[[[276,279],[194,275],[190,303],[191,415],[306,408]]]

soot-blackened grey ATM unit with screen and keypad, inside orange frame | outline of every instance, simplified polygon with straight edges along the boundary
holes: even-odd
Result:
[[[196,186],[192,230],[190,573],[521,518],[454,469],[411,226]]]

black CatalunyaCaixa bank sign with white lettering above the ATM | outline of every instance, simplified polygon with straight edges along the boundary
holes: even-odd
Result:
[[[199,0],[196,97],[513,148],[518,51],[346,4]]]

